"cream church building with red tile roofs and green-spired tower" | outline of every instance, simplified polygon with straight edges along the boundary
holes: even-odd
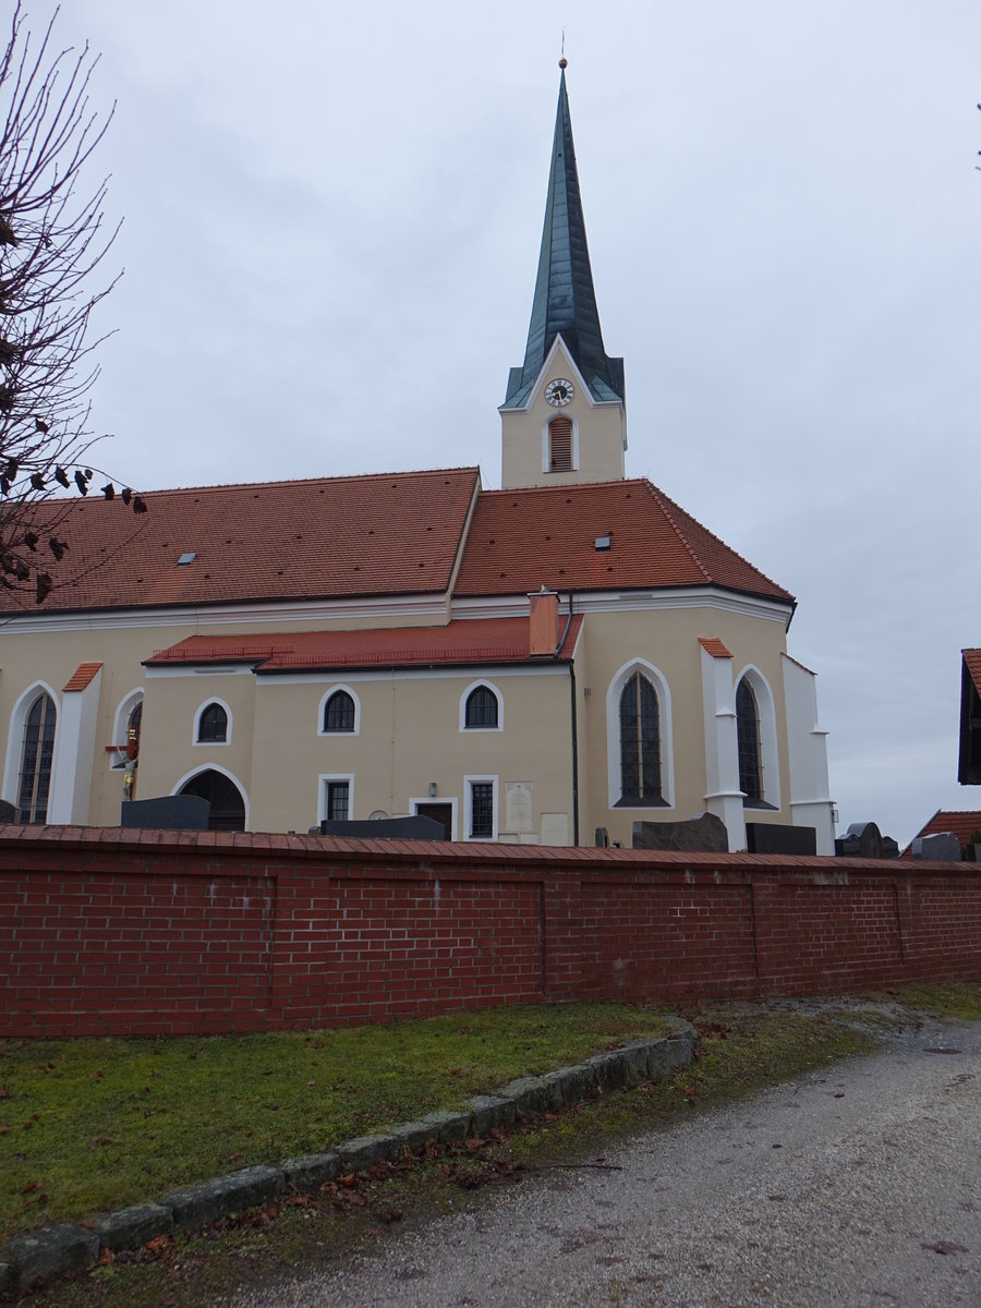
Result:
[[[500,490],[476,467],[203,487],[136,525],[80,500],[47,600],[3,599],[17,820],[195,794],[218,829],[422,814],[451,840],[629,846],[637,819],[708,811],[731,850],[749,820],[832,854],[794,598],[627,476],[564,71],[500,415]]]

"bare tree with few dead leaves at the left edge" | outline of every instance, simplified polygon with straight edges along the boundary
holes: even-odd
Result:
[[[0,587],[38,604],[71,548],[72,500],[42,501],[59,484],[88,494],[94,475],[88,395],[105,337],[89,320],[119,276],[99,268],[119,230],[103,221],[107,178],[81,181],[115,105],[101,119],[90,109],[98,56],[54,48],[56,17],[35,41],[17,0],[0,60]],[[115,496],[111,481],[102,493]]]

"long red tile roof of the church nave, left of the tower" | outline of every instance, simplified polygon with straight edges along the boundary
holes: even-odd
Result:
[[[64,560],[43,556],[55,589],[41,611],[438,594],[479,476],[450,468],[157,490],[139,518],[89,496],[59,523]],[[64,510],[50,500],[39,511]],[[196,557],[179,566],[184,552]],[[18,608],[38,612],[33,595],[0,596],[0,611]]]

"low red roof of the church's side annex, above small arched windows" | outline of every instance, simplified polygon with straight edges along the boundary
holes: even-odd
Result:
[[[577,613],[565,633],[560,659],[572,657],[581,625],[582,615]],[[296,632],[286,636],[191,636],[156,653],[146,659],[146,666],[252,663],[260,672],[298,672],[528,661],[528,619],[489,617],[454,621],[446,627]]]

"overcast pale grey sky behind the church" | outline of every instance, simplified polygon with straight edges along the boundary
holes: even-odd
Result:
[[[981,808],[977,0],[68,0],[126,218],[97,462],[498,485],[562,27],[628,475],[798,596],[840,829]]]

